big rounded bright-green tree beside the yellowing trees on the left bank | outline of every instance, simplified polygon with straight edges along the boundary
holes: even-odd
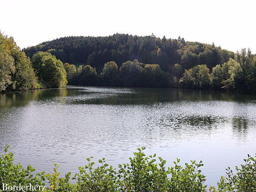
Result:
[[[48,52],[38,52],[32,57],[32,65],[39,80],[47,87],[64,87],[67,73],[63,63]]]

